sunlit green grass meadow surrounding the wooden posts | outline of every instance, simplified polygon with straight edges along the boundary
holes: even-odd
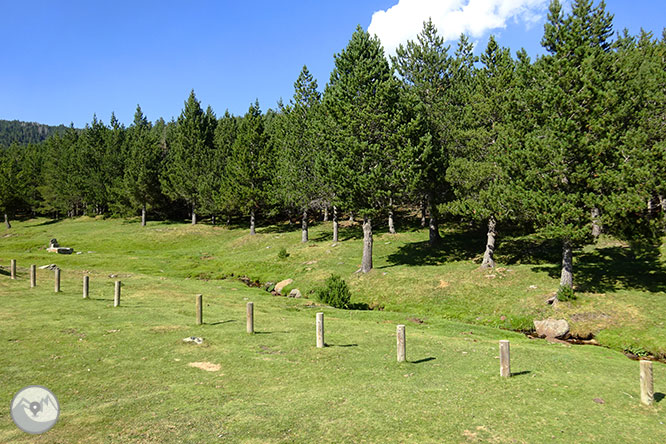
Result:
[[[492,327],[520,325],[538,310],[549,314],[540,298],[557,281],[539,269],[547,264],[500,266],[505,270],[488,278],[469,258],[396,263],[392,255],[423,242],[425,233],[415,231],[379,235],[377,269],[361,276],[353,273],[360,242],[333,247],[326,226],[315,227],[311,237],[320,240],[308,246],[281,227],[251,238],[210,226],[45,222],[17,223],[10,237],[0,238],[1,265],[16,258],[20,272],[15,281],[0,276],[0,405],[8,406],[21,387],[41,384],[58,396],[61,417],[35,438],[15,428],[7,412],[0,416],[0,442],[657,443],[666,431],[663,364],[654,369],[659,402],[645,407],[638,363],[621,353]],[[52,237],[83,253],[46,253]],[[282,247],[286,259],[277,258]],[[38,287],[30,289],[29,264],[52,262],[63,270],[62,292],[53,292],[48,270],[38,272]],[[89,300],[81,298],[84,271],[91,275]],[[232,273],[262,282],[291,277],[291,287],[304,292],[338,273],[355,302],[387,310],[335,310],[215,279]],[[116,279],[123,282],[118,308]],[[197,293],[204,295],[201,326],[194,325]],[[663,307],[655,302],[663,294],[636,288],[606,294],[627,305],[624,311],[613,305],[626,318],[612,318],[617,333],[606,327],[599,338],[663,347]],[[606,313],[608,299],[586,293],[557,310]],[[245,333],[248,300],[255,303],[254,335]],[[317,311],[326,314],[324,349],[314,346]],[[642,329],[631,323],[634,316],[656,319]],[[589,328],[608,321],[579,318]],[[407,324],[404,364],[395,362],[399,323]],[[191,335],[204,344],[182,342]],[[515,376],[508,380],[499,377],[499,339],[511,340]]]

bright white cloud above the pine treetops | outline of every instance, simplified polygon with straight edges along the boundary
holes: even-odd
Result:
[[[533,26],[541,20],[548,0],[399,0],[386,11],[372,14],[368,27],[387,53],[400,43],[415,40],[423,22],[432,18],[438,33],[447,41],[465,33],[480,38],[488,31],[503,29],[507,21]]]

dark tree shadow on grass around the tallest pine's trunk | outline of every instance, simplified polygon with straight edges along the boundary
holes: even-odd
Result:
[[[579,291],[605,293],[621,289],[666,292],[666,270],[657,247],[635,252],[626,247],[605,247],[574,253],[574,283]],[[537,266],[533,271],[558,278],[560,265]]]

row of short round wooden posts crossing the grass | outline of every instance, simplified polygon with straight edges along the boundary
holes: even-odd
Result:
[[[12,259],[10,263],[10,276],[16,279],[16,260]],[[33,288],[37,285],[37,267],[30,266],[30,287]],[[120,287],[121,282],[115,282],[113,306],[120,306]],[[90,277],[83,276],[83,298],[88,298],[90,288]],[[60,268],[55,269],[55,292],[60,292]],[[203,324],[203,295],[196,295],[196,323],[197,325]],[[246,330],[248,333],[254,333],[254,303],[248,302],[246,305]],[[316,316],[316,332],[317,332],[317,348],[324,348],[324,313],[319,312]],[[397,341],[397,360],[398,362],[405,362],[407,360],[407,343],[405,341],[405,326],[398,325],[396,331]],[[499,341],[499,355],[500,355],[500,376],[503,378],[511,377],[511,353],[509,348],[509,341]],[[654,376],[652,372],[652,361],[640,361],[640,386],[641,386],[641,402],[645,405],[651,405],[654,402]]]

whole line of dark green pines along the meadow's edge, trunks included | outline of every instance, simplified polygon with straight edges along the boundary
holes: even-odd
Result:
[[[656,238],[666,210],[666,30],[614,34],[604,2],[549,6],[546,54],[514,57],[491,36],[479,57],[452,48],[431,21],[386,58],[360,26],[334,56],[323,92],[306,66],[276,109],[258,102],[218,117],[191,92],[177,119],[96,117],[0,158],[0,208],[15,214],[159,213],[197,218],[313,211],[363,219],[360,271],[372,269],[373,226],[421,209],[429,243],[442,215],[521,226],[562,245],[560,293],[573,287],[573,251],[600,232]],[[374,225],[373,225],[374,224]]]

